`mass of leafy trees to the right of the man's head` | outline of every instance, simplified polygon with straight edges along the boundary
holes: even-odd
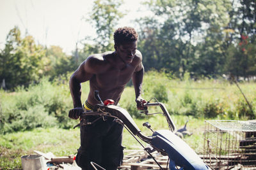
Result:
[[[152,0],[147,5],[154,18],[137,20],[146,69],[164,67],[180,78],[186,72],[195,78],[255,75],[255,1]]]

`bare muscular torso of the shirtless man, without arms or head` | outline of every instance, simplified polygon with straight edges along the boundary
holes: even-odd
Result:
[[[99,90],[102,101],[113,99],[115,104],[117,104],[125,85],[131,80],[134,72],[141,69],[141,53],[137,50],[131,64],[122,62],[114,52],[106,52],[90,57],[85,62],[90,62],[90,60],[94,59],[94,62],[91,62],[90,66],[93,65],[92,63],[95,63],[97,68],[92,68],[93,71],[88,70],[89,73],[94,72],[89,80],[90,93],[88,94],[88,103],[92,105],[99,103],[93,96],[93,92]]]

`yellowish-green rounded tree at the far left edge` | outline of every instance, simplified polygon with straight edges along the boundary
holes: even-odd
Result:
[[[28,86],[44,73],[44,48],[36,45],[32,36],[21,38],[19,27],[14,27],[8,33],[0,57],[0,80],[5,81],[6,89],[13,89],[17,85]]]

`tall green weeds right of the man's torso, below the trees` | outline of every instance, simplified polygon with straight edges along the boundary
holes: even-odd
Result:
[[[143,97],[147,101],[156,97],[166,105],[171,115],[220,119],[252,119],[256,116],[255,107],[252,113],[236,85],[227,80],[202,78],[194,81],[189,78],[189,73],[185,73],[184,79],[180,81],[170,78],[164,72],[148,71],[143,82]],[[254,85],[255,83],[240,83],[252,106],[255,106]],[[136,110],[134,99],[133,88],[127,87],[120,105],[135,118],[145,117]]]

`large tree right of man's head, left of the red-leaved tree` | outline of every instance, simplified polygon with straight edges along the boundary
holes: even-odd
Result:
[[[221,59],[216,58],[222,56],[221,28],[229,21],[227,14],[230,1],[152,0],[148,6],[156,15],[157,22],[148,18],[141,20],[143,24],[147,23],[140,31],[140,37],[143,38],[142,48],[149,48],[147,45],[150,45],[150,48],[154,49],[151,56],[144,54],[144,61],[157,60],[157,69],[164,67],[165,70],[181,77],[187,71],[193,74],[198,74],[199,71],[199,74],[206,75],[216,73],[216,67],[221,62]],[[141,33],[145,30],[152,34],[145,36]],[[209,36],[214,41],[211,41]],[[204,48],[204,43],[208,47]],[[209,50],[209,53],[204,53],[206,56],[201,51],[203,49]],[[198,69],[197,66],[204,61],[209,64]]]

